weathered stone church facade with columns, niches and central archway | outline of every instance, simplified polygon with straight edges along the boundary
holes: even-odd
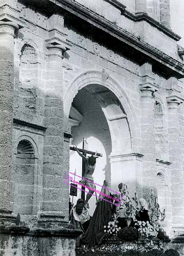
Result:
[[[153,188],[183,241],[184,62],[169,2],[0,1],[0,255],[75,255],[63,180],[79,129],[103,144],[111,188]]]

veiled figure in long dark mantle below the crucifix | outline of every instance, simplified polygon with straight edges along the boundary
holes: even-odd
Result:
[[[109,190],[106,189],[106,186],[107,183],[106,180],[104,180],[101,192],[109,195]],[[89,247],[94,247],[99,243],[104,235],[104,226],[111,220],[112,217],[112,204],[109,202],[110,199],[106,198],[105,196],[103,196],[103,199],[98,200],[89,227],[81,241],[82,244],[88,244]]]

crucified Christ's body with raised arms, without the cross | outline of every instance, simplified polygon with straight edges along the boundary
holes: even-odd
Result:
[[[94,180],[92,175],[93,175],[93,172],[95,171],[97,152],[95,153],[95,156],[92,155],[90,157],[85,157],[83,154],[80,153],[76,145],[75,145],[75,150],[78,152],[80,157],[83,157],[83,159],[86,162],[85,173],[83,178],[87,180],[80,180],[80,183],[90,188],[89,192],[86,195],[86,200],[85,200],[86,207],[89,208],[88,201],[92,197],[92,194],[95,192]]]

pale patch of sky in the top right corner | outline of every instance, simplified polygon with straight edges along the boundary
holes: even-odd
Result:
[[[184,47],[184,0],[170,0],[171,29],[180,35],[178,42]]]

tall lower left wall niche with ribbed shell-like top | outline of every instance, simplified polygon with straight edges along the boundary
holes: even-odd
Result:
[[[35,151],[32,143],[21,140],[14,158],[14,213],[33,214]]]

